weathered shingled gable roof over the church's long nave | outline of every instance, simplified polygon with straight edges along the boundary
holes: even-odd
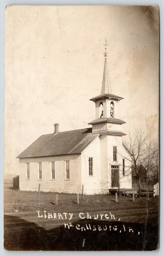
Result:
[[[98,136],[92,128],[41,135],[17,158],[80,154]]]

